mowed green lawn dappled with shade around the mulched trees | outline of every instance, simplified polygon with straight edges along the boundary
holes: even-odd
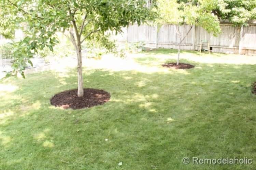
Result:
[[[196,67],[173,70],[161,64],[175,62],[174,50],[140,55],[138,65],[156,69],[84,69],[85,87],[111,93],[108,103],[87,109],[49,103],[77,87],[75,69],[2,80],[0,169],[256,169],[256,65],[182,59]],[[185,165],[183,157],[247,157],[253,164]]]

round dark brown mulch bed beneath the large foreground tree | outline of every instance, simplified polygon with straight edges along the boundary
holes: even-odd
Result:
[[[110,94],[104,90],[85,88],[84,96],[77,96],[77,89],[63,91],[51,99],[51,104],[64,109],[81,109],[102,105],[110,100]]]

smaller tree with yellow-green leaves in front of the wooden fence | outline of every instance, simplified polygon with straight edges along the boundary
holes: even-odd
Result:
[[[179,37],[177,65],[180,62],[181,43],[194,26],[200,26],[209,33],[217,36],[221,32],[218,17],[212,11],[215,8],[225,8],[223,0],[158,0],[160,23],[176,24],[176,33]],[[182,37],[179,26],[189,24],[190,29]]]

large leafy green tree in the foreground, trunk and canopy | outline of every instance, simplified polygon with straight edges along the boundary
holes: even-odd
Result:
[[[53,50],[59,43],[55,33],[68,32],[77,53],[78,96],[84,95],[82,43],[102,40],[104,32],[121,32],[129,23],[154,18],[144,0],[0,0],[0,34],[12,37],[23,29],[26,37],[14,43],[14,71],[24,76],[24,63],[45,47]],[[8,28],[8,31],[6,31]]]

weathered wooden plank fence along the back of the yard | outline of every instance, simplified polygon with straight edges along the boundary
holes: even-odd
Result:
[[[187,37],[184,39],[181,49],[199,50],[201,40],[209,40],[212,52],[256,55],[256,21],[252,20],[248,26],[233,27],[231,23],[222,22],[222,33],[214,37],[201,27],[193,26]],[[124,33],[117,35],[118,41],[128,41],[135,43],[143,41],[148,46],[154,48],[177,49],[179,38],[175,31],[175,25],[163,24],[160,29],[155,26],[138,24],[124,28]],[[180,31],[184,36],[191,26],[180,26]],[[207,48],[207,44],[204,44]]]

